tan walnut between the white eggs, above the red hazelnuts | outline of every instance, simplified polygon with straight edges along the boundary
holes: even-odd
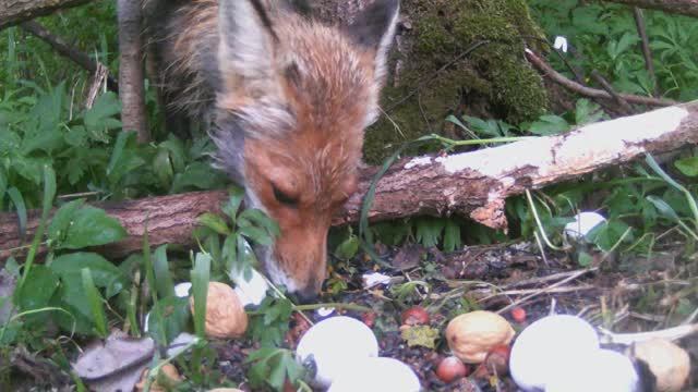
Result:
[[[466,364],[482,363],[494,346],[509,344],[514,334],[504,317],[485,310],[457,316],[446,327],[448,347]]]

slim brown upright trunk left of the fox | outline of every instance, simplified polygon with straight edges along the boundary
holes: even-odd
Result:
[[[119,20],[119,98],[123,128],[135,131],[139,142],[147,143],[151,134],[145,115],[143,57],[141,52],[141,2],[117,0]]]

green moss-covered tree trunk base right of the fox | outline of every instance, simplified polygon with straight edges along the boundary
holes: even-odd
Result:
[[[544,112],[547,97],[542,79],[524,60],[525,45],[540,50],[532,37],[541,37],[525,0],[404,3],[413,24],[405,38],[413,45],[405,53],[398,86],[383,93],[383,108],[390,120],[382,119],[366,133],[369,162],[378,162],[400,143],[442,133],[450,113],[516,124]],[[488,44],[461,56],[479,41]]]

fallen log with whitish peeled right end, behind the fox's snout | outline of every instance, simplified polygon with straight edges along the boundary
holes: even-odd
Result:
[[[696,143],[698,101],[590,124],[557,136],[532,137],[446,157],[402,159],[377,183],[369,219],[457,213],[506,230],[504,200],[508,196],[629,162],[646,152],[665,152]],[[362,172],[359,192],[333,224],[359,220],[363,196],[375,172],[376,168]],[[99,205],[119,219],[130,235],[100,250],[111,256],[139,250],[146,222],[152,245],[192,245],[196,218],[219,211],[225,197],[225,192],[213,191]],[[0,259],[21,254],[16,248],[31,238],[38,216],[37,211],[29,213],[28,235],[23,241],[16,215],[0,215]]]

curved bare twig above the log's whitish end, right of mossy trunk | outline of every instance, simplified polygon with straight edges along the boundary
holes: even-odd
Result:
[[[553,70],[552,66],[550,66],[541,58],[535,56],[535,53],[533,53],[533,51],[531,51],[530,49],[526,49],[526,58],[531,62],[531,64],[537,70],[544,73],[553,82],[559,84],[561,86],[567,88],[570,91],[577,93],[579,95],[582,95],[589,98],[613,99],[613,97],[607,91],[597,89],[597,88],[591,88],[565,77],[563,74]],[[619,96],[623,97],[623,99],[625,99],[629,103],[645,105],[650,107],[669,107],[677,103],[676,101],[673,101],[671,99],[642,97],[642,96],[637,96],[633,94],[619,94]]]

